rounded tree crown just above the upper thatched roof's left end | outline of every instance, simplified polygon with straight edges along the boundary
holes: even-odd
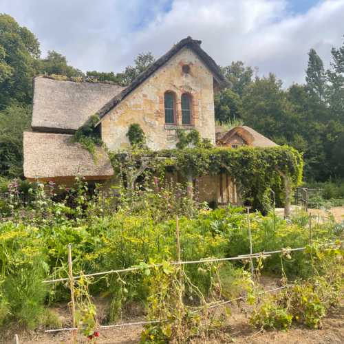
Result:
[[[40,63],[40,72],[47,74],[59,74],[68,77],[83,76],[83,72],[67,64],[65,56],[58,54],[54,50],[47,52],[47,57]]]

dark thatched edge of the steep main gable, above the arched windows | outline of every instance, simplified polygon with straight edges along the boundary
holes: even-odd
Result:
[[[177,54],[182,48],[189,47],[197,56],[201,58],[201,60],[205,63],[205,65],[211,70],[213,73],[215,81],[219,84],[220,87],[230,86],[230,83],[226,80],[224,75],[221,72],[219,66],[215,63],[213,58],[206,54],[204,50],[201,48],[202,41],[196,41],[188,36],[186,39],[182,39],[179,43],[173,45],[172,49],[166,52],[163,56],[158,58],[155,63],[153,63],[149,68],[147,68],[144,72],[142,72],[133,82],[125,89],[120,92],[117,96],[114,96],[109,102],[107,102],[99,111],[98,115],[100,118],[103,118],[111,109],[116,107],[118,103],[120,103],[126,96],[128,96],[136,87],[138,87],[141,83],[144,82],[151,74],[153,74],[158,68],[162,67],[166,62],[168,62],[175,54]]]

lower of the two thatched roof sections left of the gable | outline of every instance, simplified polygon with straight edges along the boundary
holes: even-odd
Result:
[[[72,142],[72,135],[24,132],[24,175],[54,179],[83,175],[102,180],[114,175],[104,149],[96,147],[96,162],[89,151]]]

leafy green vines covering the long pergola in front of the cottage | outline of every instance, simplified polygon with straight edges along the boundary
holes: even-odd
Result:
[[[123,158],[125,155],[133,161]],[[288,196],[290,189],[301,183],[303,172],[301,154],[288,146],[238,149],[195,147],[155,152],[143,149],[111,156],[115,169],[122,165],[121,171],[126,171],[126,166],[131,166],[128,170],[131,175],[138,175],[136,171],[140,169],[144,171],[144,165],[144,168],[158,172],[169,167],[170,174],[171,171],[178,173],[184,182],[189,183],[189,187],[192,187],[194,180],[198,180],[201,188],[202,181],[207,181],[210,191],[206,190],[204,197],[213,197],[215,201],[218,199],[219,175],[228,175],[239,195],[260,211],[269,208],[272,189]],[[136,171],[133,171],[133,166]],[[233,190],[233,184],[231,187]],[[211,201],[210,198],[205,200]],[[285,200],[289,202],[288,197]]]

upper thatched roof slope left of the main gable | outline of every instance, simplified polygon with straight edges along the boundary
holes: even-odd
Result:
[[[73,133],[124,87],[34,78],[32,129]]]

